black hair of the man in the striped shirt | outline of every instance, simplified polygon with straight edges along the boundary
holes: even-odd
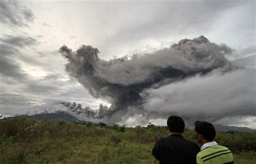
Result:
[[[204,138],[209,141],[213,141],[214,137],[216,136],[215,128],[211,123],[208,123],[207,121],[196,121],[195,130],[197,133],[202,134]]]

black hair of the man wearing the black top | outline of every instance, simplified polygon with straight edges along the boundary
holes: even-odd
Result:
[[[179,116],[170,116],[167,120],[167,126],[171,132],[182,133],[185,128],[185,123]]]

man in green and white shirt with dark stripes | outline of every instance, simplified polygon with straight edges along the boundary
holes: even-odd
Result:
[[[207,121],[196,121],[195,136],[202,143],[201,152],[196,155],[198,164],[234,164],[233,155],[228,148],[213,141],[215,128]]]

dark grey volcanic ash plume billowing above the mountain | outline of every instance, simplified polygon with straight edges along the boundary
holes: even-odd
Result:
[[[81,45],[76,52],[63,45],[59,52],[68,60],[65,70],[71,77],[95,98],[112,104],[110,107],[100,105],[97,111],[77,106],[79,112],[97,119],[110,118],[116,112],[127,113],[129,109],[143,110],[144,90],[205,75],[214,69],[222,73],[236,69],[225,58],[232,54],[232,49],[211,43],[204,36],[180,40],[154,53],[133,54],[109,61],[101,60],[100,51],[90,45]]]

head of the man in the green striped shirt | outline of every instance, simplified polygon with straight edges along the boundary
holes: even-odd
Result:
[[[195,122],[195,137],[199,143],[213,141],[216,136],[215,128],[207,121]]]

